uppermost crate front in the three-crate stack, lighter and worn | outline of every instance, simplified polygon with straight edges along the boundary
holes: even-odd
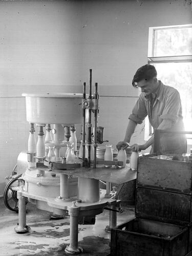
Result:
[[[169,189],[191,195],[192,164],[189,162],[139,157],[137,185]]]

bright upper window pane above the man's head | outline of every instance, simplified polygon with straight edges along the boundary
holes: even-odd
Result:
[[[154,57],[192,54],[192,27],[155,30]]]

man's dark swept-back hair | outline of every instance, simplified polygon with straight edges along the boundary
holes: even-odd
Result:
[[[146,64],[136,71],[136,73],[133,77],[132,86],[137,88],[138,87],[137,82],[139,82],[143,79],[148,81],[156,76],[157,76],[157,71],[156,71],[155,67],[153,65]]]

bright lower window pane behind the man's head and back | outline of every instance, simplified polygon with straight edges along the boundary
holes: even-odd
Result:
[[[192,131],[192,63],[155,63],[154,66],[158,79],[179,91],[185,131]]]

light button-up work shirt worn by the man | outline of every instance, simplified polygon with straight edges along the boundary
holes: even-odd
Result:
[[[155,93],[152,93],[150,96],[145,96],[144,92],[140,94],[129,119],[140,124],[147,115],[154,129],[158,129],[158,126],[163,119],[169,119],[173,123],[170,130],[184,131],[182,105],[179,92],[173,87],[165,86],[161,81],[159,81],[159,87]],[[179,147],[179,144],[174,144],[176,137],[179,138],[177,141],[182,143],[182,147],[186,146],[185,136],[178,134],[177,136],[173,136],[173,134],[166,135],[166,138],[168,137],[172,137],[172,141],[170,142],[167,140],[162,142],[163,145],[161,146],[164,147],[164,152],[167,150],[166,152],[169,153],[172,149],[175,150],[175,148]],[[168,143],[170,144],[168,145]],[[184,151],[183,148],[181,151]]]

